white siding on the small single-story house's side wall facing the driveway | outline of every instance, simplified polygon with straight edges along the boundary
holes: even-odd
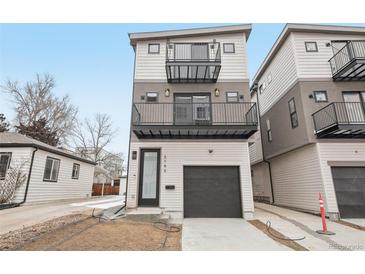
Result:
[[[57,182],[44,182],[47,156],[60,159]],[[80,164],[79,179],[72,179],[73,164]],[[27,202],[91,197],[94,166],[43,150],[35,153]]]

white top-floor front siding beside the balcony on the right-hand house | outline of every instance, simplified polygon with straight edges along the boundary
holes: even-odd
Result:
[[[330,78],[331,67],[328,62],[333,56],[333,40],[364,40],[365,35],[339,35],[323,33],[293,33],[293,46],[299,78]],[[318,52],[306,52],[305,42],[317,42]]]

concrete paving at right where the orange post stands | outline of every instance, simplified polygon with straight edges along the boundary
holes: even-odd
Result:
[[[255,203],[254,218],[263,223],[271,222],[271,227],[297,241],[308,250],[365,250],[365,232],[337,222],[327,220],[329,231],[336,233],[325,236],[316,233],[322,228],[321,218],[282,207]]]

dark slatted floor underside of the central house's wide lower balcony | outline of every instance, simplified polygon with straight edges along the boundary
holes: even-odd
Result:
[[[141,139],[247,139],[256,131],[257,125],[133,126],[133,132]]]

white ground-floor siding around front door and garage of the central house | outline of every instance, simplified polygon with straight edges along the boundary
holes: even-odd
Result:
[[[138,167],[140,160],[139,150],[141,148],[161,149],[160,207],[165,208],[167,211],[183,212],[184,165],[226,165],[240,167],[242,208],[243,211],[247,213],[246,216],[253,212],[254,208],[247,142],[131,143],[131,151],[138,151],[138,160],[129,159],[127,191],[127,206],[129,208],[137,207]],[[208,152],[209,149],[213,149],[213,153],[210,154]],[[164,167],[164,165],[166,165],[166,167]],[[175,190],[166,190],[165,185],[167,184],[175,185]]]

